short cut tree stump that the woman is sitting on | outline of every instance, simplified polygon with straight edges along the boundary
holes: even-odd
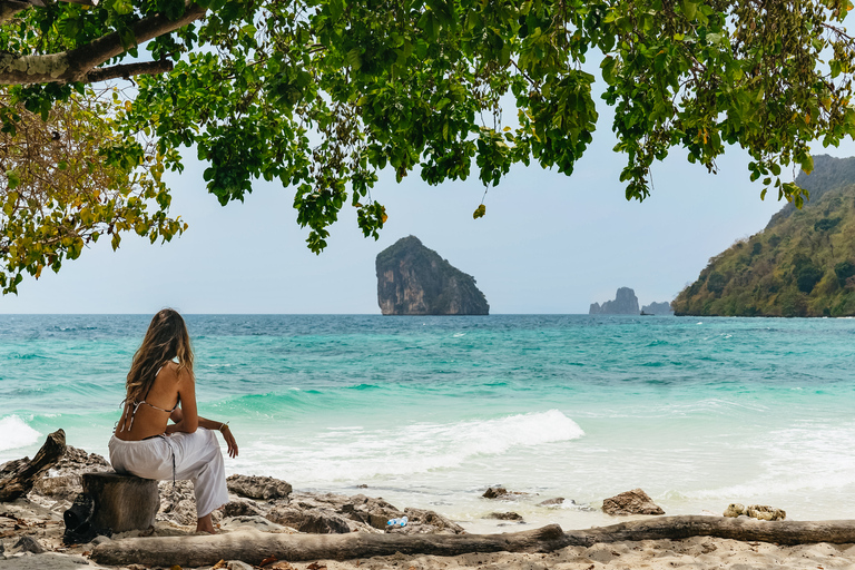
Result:
[[[145,530],[160,508],[157,481],[119,473],[83,473],[83,492],[62,518],[63,542],[88,542],[99,534]]]

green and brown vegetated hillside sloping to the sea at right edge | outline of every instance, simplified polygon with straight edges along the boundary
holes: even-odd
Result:
[[[678,315],[855,315],[855,158],[814,158],[810,191],[712,257],[671,303]]]

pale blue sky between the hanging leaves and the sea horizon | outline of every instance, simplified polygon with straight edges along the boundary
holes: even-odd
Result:
[[[259,181],[245,203],[223,207],[205,189],[204,165],[188,160],[168,179],[171,213],[189,224],[183,236],[150,245],[126,235],[117,252],[102,239],[59,274],[24,278],[17,296],[0,296],[0,313],[380,314],[374,259],[414,235],[475,277],[492,314],[580,314],[622,286],[640,304],[671,301],[710,257],[783,207],[774,196],[760,200],[738,148],[718,160],[717,175],[675,149],[653,165],[651,196],[627,202],[626,157],[612,153],[612,116],[599,104],[594,141],[572,176],[517,167],[473,219],[484,191],[476,179],[432,187],[384,171],[372,190],[389,215],[380,239],[364,238],[346,206],[321,255],[306,247],[292,189]],[[816,147],[855,155],[855,145]]]

